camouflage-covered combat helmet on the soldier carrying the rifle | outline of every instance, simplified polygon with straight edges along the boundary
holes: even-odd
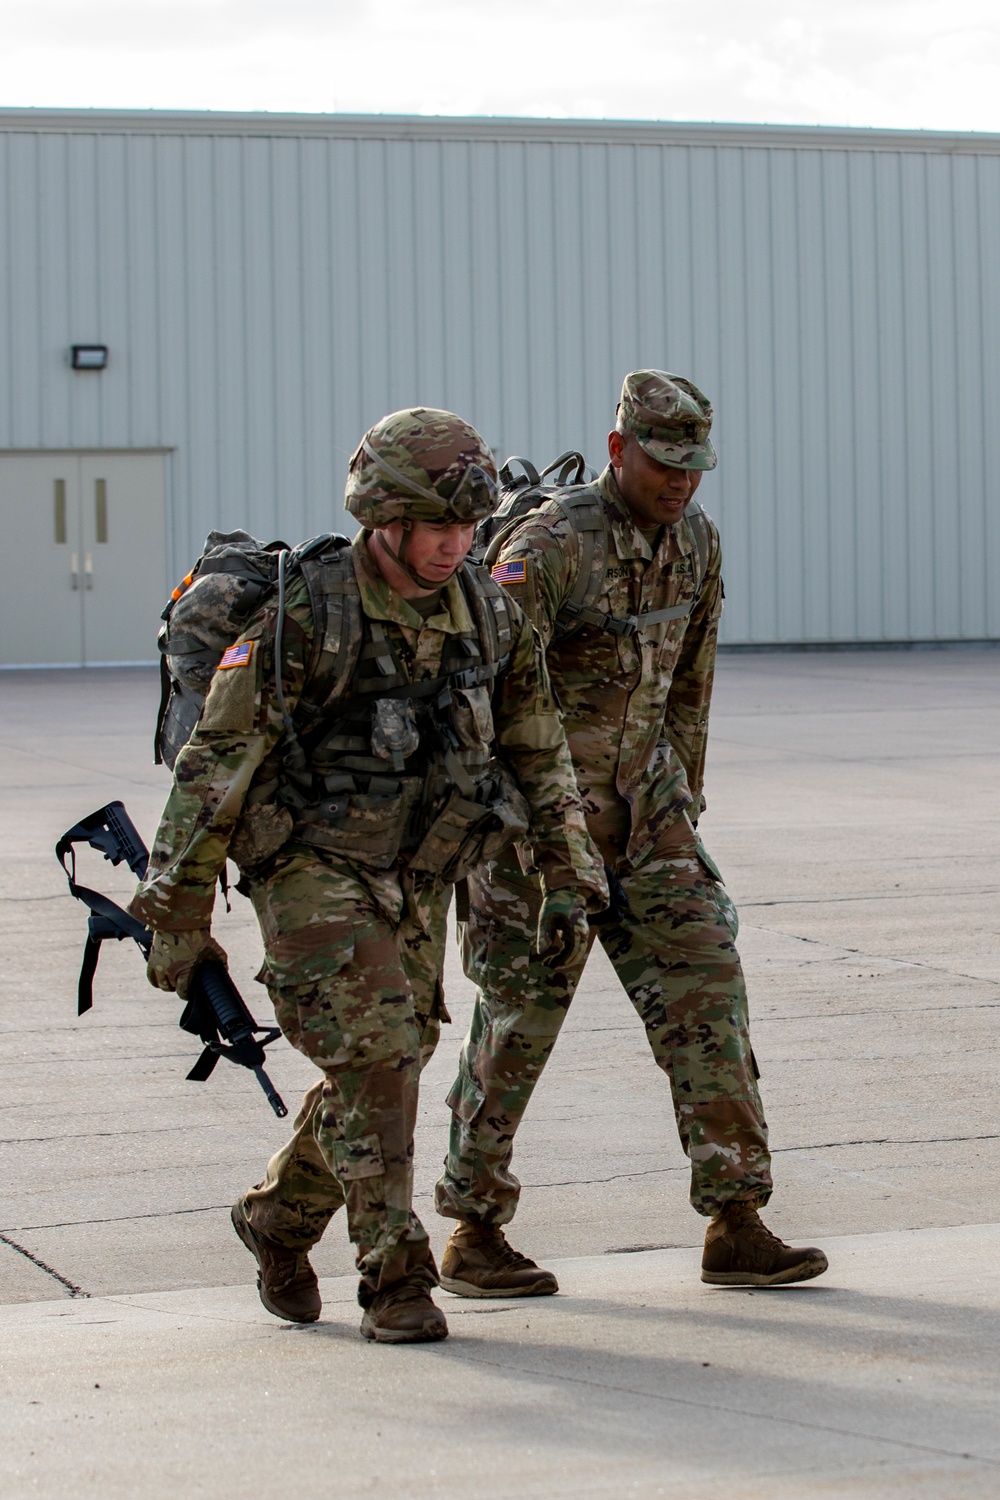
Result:
[[[345,494],[351,514],[369,528],[481,520],[498,501],[496,464],[483,438],[462,417],[432,406],[376,422],[351,459]]]

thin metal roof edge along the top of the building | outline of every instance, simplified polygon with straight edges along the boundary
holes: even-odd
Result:
[[[267,114],[213,110],[0,110],[0,134],[243,135],[325,140],[547,141],[1000,154],[1000,134],[829,124],[553,120],[505,116]]]

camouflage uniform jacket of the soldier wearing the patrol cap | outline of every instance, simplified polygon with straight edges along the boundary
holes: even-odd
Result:
[[[594,489],[604,506],[609,538],[607,573],[594,608],[622,616],[690,602],[697,549],[688,522],[666,526],[654,552],[634,525],[610,466]],[[499,554],[499,562],[525,560],[525,582],[507,584],[505,592],[523,606],[546,644],[588,826],[609,864],[622,856],[634,864],[685,808],[697,818],[703,806],[723,612],[714,522],[709,534],[708,566],[690,616],[649,626],[633,638],[592,626],[556,636],[556,615],[580,566],[579,534],[558,501],[526,518]]]

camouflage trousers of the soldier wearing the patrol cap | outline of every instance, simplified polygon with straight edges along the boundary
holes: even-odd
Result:
[[[768,1128],[756,1083],[736,910],[687,819],[637,867],[619,872],[630,912],[600,940],[670,1080],[691,1203],[712,1215],[730,1198],[771,1196]],[[541,894],[504,856],[469,880],[462,932],[478,986],[436,1208],[448,1218],[505,1224],[520,1184],[513,1140],[552,1054],[583,963],[553,972],[531,958]]]

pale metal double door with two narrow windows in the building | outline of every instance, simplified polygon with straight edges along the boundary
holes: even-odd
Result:
[[[163,453],[0,453],[0,664],[156,660],[163,468]]]

